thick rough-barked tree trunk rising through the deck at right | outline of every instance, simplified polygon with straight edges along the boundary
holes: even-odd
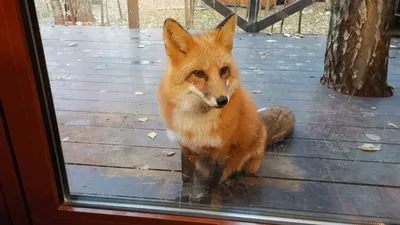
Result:
[[[390,27],[395,0],[332,1],[321,84],[337,92],[388,97]]]

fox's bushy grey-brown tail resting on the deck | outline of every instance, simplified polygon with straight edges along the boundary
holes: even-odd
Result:
[[[286,107],[262,108],[258,110],[258,114],[267,128],[268,146],[282,141],[294,130],[294,114]]]

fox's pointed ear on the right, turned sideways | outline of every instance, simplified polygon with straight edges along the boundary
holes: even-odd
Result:
[[[216,29],[218,31],[217,42],[231,51],[236,31],[236,14],[226,17]]]

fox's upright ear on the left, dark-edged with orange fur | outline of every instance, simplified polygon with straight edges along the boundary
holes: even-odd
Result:
[[[192,37],[174,19],[166,19],[164,22],[164,43],[169,56],[175,54],[186,54],[189,51]]]

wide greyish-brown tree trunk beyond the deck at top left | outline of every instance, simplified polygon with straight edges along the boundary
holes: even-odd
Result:
[[[68,0],[68,20],[72,23],[93,24],[94,16],[90,0]]]

